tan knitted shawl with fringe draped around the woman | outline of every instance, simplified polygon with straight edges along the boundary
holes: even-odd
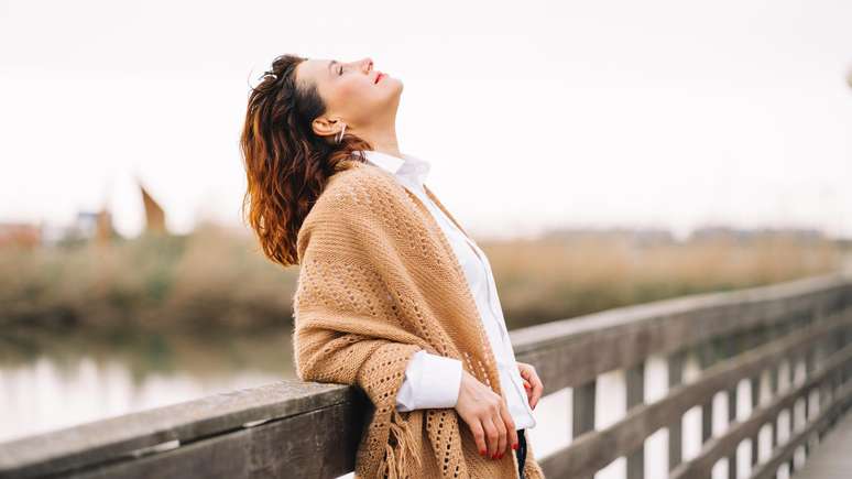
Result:
[[[357,385],[370,399],[356,478],[517,478],[514,451],[481,456],[455,409],[395,407],[408,361],[422,349],[460,360],[505,399],[463,270],[426,206],[390,173],[352,161],[329,178],[296,247],[297,374]],[[524,473],[544,478],[528,437]]]

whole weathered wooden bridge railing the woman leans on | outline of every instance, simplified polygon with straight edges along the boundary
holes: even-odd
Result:
[[[662,428],[671,478],[709,478],[720,460],[735,478],[743,442],[751,444],[751,477],[775,477],[852,402],[852,279],[842,275],[611,309],[511,337],[545,394],[571,388],[572,440],[539,457],[549,478],[591,478],[622,457],[627,478],[643,478],[645,442]],[[690,355],[701,372],[685,382]],[[645,364],[660,356],[669,389],[645,402]],[[794,381],[790,366],[802,363],[806,374]],[[597,379],[618,370],[627,410],[596,429]],[[779,371],[790,374],[788,388],[779,388]],[[765,374],[768,390],[761,388]],[[738,418],[743,381],[751,383],[751,412]],[[713,435],[718,393],[728,398],[729,424]],[[795,418],[802,404],[806,421],[780,440],[779,415]],[[0,478],[335,478],[354,467],[368,405],[357,388],[282,380],[0,444]],[[682,418],[697,406],[702,447],[684,460]],[[772,447],[761,451],[757,437],[767,427]]]

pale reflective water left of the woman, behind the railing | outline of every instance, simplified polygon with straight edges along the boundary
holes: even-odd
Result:
[[[2,339],[0,443],[295,377],[288,333]]]

